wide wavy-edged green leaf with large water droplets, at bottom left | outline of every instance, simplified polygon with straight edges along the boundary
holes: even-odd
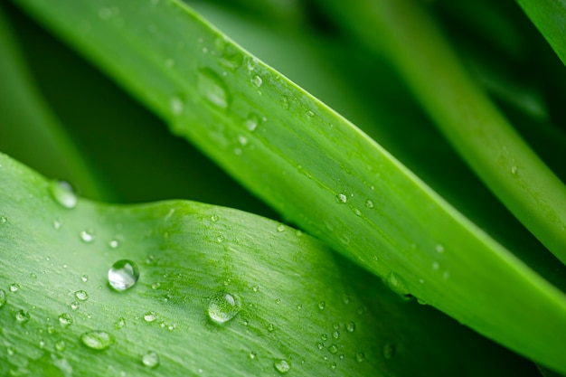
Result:
[[[0,176],[3,376],[533,374],[276,221],[182,201],[67,208],[71,192],[5,155]],[[116,291],[123,259],[139,276]]]

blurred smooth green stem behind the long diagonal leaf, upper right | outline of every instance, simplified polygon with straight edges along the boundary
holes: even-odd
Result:
[[[369,48],[386,51],[482,181],[566,263],[566,187],[467,73],[429,14],[411,0],[355,2],[348,12],[335,4],[346,27]]]

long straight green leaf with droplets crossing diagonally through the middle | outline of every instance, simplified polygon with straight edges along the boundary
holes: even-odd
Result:
[[[173,0],[18,1],[289,221],[566,371],[564,295],[334,111]]]

